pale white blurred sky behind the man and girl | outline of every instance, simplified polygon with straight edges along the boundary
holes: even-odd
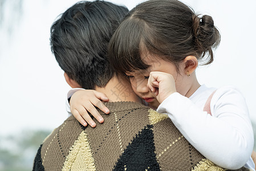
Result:
[[[0,17],[0,135],[22,129],[53,129],[67,118],[64,105],[70,89],[50,50],[50,27],[75,2],[23,0],[21,14],[4,4]],[[129,10],[141,1],[110,1]],[[200,14],[211,15],[221,32],[221,44],[210,66],[199,67],[201,84],[237,86],[256,123],[256,1],[184,0]],[[9,28],[12,28],[11,30]]]

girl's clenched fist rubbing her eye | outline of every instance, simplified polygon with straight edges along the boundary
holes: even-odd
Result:
[[[162,103],[169,95],[176,92],[173,76],[165,72],[151,72],[147,86],[156,95],[159,103]]]

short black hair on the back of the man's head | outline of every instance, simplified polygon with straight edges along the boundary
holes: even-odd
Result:
[[[126,7],[110,2],[81,1],[51,26],[51,50],[62,70],[81,87],[105,87],[113,77],[108,43],[127,13]]]

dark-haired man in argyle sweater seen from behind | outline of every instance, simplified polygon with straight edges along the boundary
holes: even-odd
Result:
[[[204,170],[221,169],[202,156],[168,116],[140,103],[107,58],[113,31],[127,9],[109,2],[79,2],[51,27],[51,48],[71,87],[95,89],[111,102],[96,128],[74,116],[40,146],[33,170]]]

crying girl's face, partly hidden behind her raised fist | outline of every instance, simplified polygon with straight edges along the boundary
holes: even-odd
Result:
[[[175,80],[177,92],[181,93],[181,95],[186,95],[188,84],[184,84],[184,81],[187,76],[182,72],[178,74],[176,66],[173,63],[167,62],[163,59],[156,59],[152,56],[147,56],[147,60],[145,61],[147,61],[145,63],[151,67],[147,70],[127,72],[126,75],[132,84],[133,91],[135,91],[139,97],[147,101],[151,107],[157,108],[160,104],[159,101],[157,101],[156,96],[153,95],[147,87],[148,77],[151,71],[160,71],[171,74]]]

